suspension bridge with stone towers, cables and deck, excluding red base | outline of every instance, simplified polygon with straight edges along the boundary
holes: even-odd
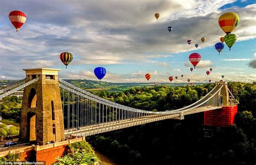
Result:
[[[165,119],[236,106],[226,82],[176,110],[145,111],[117,104],[58,78],[59,69],[24,69],[26,78],[0,90],[0,99],[24,89],[19,140],[62,141]]]

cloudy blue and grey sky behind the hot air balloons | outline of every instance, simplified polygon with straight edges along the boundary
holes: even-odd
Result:
[[[12,10],[26,15],[19,32],[8,18]],[[232,32],[237,42],[219,55],[214,45],[225,35],[218,25],[225,12],[239,16]],[[158,20],[154,13],[160,13]],[[24,68],[58,68],[60,78],[97,80],[93,70],[100,66],[107,70],[107,82],[147,82],[146,73],[150,82],[169,82],[169,76],[178,76],[172,83],[188,78],[253,82],[255,15],[255,0],[0,1],[0,80],[24,78]],[[59,60],[62,52],[73,54],[67,69]],[[191,53],[201,55],[192,72]]]

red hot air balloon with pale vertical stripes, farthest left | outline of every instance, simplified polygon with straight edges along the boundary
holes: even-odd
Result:
[[[26,21],[26,15],[22,11],[15,10],[9,13],[9,19],[16,28],[16,32],[18,32],[19,28],[21,28]]]

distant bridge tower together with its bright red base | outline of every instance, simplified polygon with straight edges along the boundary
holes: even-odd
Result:
[[[214,127],[227,127],[234,124],[234,116],[237,113],[237,103],[231,102],[227,82],[219,81],[216,82],[217,90],[223,88],[219,91],[221,109],[205,111],[204,112],[204,125],[214,126]]]

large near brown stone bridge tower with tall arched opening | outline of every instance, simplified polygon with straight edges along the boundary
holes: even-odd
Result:
[[[59,91],[60,69],[23,69],[29,80],[39,80],[24,88],[19,141],[45,145],[49,141],[62,141],[64,121]]]

